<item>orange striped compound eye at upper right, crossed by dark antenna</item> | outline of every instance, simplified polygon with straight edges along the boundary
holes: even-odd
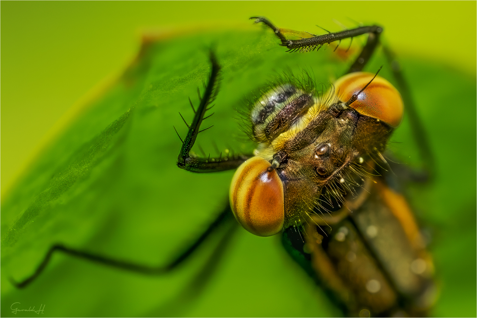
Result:
[[[354,72],[342,76],[335,83],[335,90],[341,101],[348,101],[371,81],[374,74]],[[358,99],[350,107],[358,113],[382,120],[391,127],[397,127],[403,119],[403,100],[394,86],[381,76],[376,76]]]

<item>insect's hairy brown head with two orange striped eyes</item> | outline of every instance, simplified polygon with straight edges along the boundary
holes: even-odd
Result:
[[[230,203],[239,223],[259,236],[307,221],[323,208],[324,188],[338,202],[355,195],[402,119],[399,92],[370,73],[346,75],[321,95],[305,87],[279,85],[250,113],[257,157],[235,173]]]

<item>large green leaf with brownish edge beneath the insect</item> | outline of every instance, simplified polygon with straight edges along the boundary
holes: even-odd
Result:
[[[293,263],[278,237],[243,229],[197,297],[180,298],[216,236],[164,277],[57,254],[31,286],[18,290],[8,281],[31,275],[58,242],[147,265],[165,264],[187,248],[227,204],[233,174],[176,167],[181,143],[173,125],[182,136],[187,132],[178,112],[192,120],[188,97],[198,104],[197,87],[202,89],[209,72],[208,50],[222,66],[221,85],[215,113],[204,123],[214,127],[199,134],[193,149],[199,155],[198,145],[212,155],[215,145],[219,151],[251,151],[236,110],[246,110],[282,72],[300,77],[304,69],[326,88],[349,64],[332,47],[290,54],[277,43],[259,27],[146,43],[117,83],[43,152],[3,203],[1,315],[13,316],[15,302],[21,303],[18,308],[45,305],[48,316],[342,315]],[[382,64],[378,54],[367,69],[375,72]],[[434,233],[431,251],[444,282],[435,313],[470,315],[476,297],[475,78],[411,59],[403,65],[437,156],[435,183],[407,191],[421,223]],[[389,68],[382,74],[392,81]],[[417,162],[406,119],[393,140],[401,143],[390,146],[400,160]],[[457,298],[457,291],[465,296]]]

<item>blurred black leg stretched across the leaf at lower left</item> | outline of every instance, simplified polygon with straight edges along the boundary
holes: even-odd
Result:
[[[173,270],[174,268],[182,264],[185,260],[187,260],[187,258],[193,254],[193,252],[197,249],[197,247],[199,247],[205,241],[205,239],[212,232],[214,232],[219,226],[222,226],[223,224],[231,220],[233,221],[233,216],[230,211],[230,206],[227,205],[224,211],[220,215],[218,215],[216,220],[212,222],[210,226],[208,226],[208,228],[204,231],[204,233],[202,233],[197,238],[197,240],[191,246],[187,248],[187,250],[185,250],[182,254],[178,255],[175,259],[173,259],[171,262],[169,262],[166,265],[152,267],[152,266],[146,266],[141,264],[135,264],[135,263],[131,263],[131,262],[123,261],[123,260],[101,256],[99,254],[94,254],[94,253],[70,248],[70,247],[64,246],[63,244],[56,244],[50,247],[45,257],[41,261],[40,265],[36,268],[35,272],[30,277],[25,278],[21,282],[17,282],[13,278],[10,278],[10,281],[14,286],[18,288],[23,288],[28,286],[38,276],[40,276],[43,270],[47,267],[48,263],[50,262],[55,252],[62,252],[64,254],[87,259],[87,260],[100,263],[103,265],[116,267],[116,268],[131,271],[131,272],[145,274],[145,275],[166,274],[167,272],[170,272],[171,270]]]

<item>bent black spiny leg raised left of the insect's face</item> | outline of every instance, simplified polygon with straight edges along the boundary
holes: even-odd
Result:
[[[206,129],[199,130],[202,121],[210,116],[204,117],[206,111],[211,108],[207,108],[207,106],[214,101],[218,92],[218,73],[220,71],[220,65],[218,65],[217,59],[212,52],[210,53],[210,63],[212,64],[212,69],[210,72],[209,81],[206,85],[204,95],[200,98],[200,104],[195,111],[194,119],[190,126],[188,126],[189,130],[187,131],[186,138],[184,138],[184,141],[182,142],[182,147],[177,158],[177,166],[179,168],[198,173],[235,169],[249,158],[249,156],[237,155],[224,158],[209,157],[207,159],[202,159],[193,158],[189,155],[192,146],[196,142],[197,134],[212,127],[210,126]],[[192,107],[192,109],[194,109],[194,107]]]

